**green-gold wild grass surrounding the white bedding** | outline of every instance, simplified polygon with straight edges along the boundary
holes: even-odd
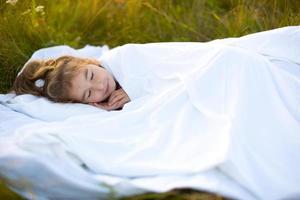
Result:
[[[19,0],[15,5],[0,0],[0,93],[9,91],[18,70],[43,47],[204,42],[299,24],[297,0]],[[17,199],[7,195],[11,193],[2,184],[0,198]],[[220,198],[181,191],[129,199],[168,195]]]

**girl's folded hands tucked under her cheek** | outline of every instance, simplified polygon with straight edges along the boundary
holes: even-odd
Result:
[[[110,111],[123,108],[124,104],[128,103],[129,101],[129,96],[122,88],[120,88],[113,91],[107,102],[90,103],[90,105]]]

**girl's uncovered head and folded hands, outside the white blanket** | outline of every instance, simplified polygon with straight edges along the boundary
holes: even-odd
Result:
[[[13,90],[17,95],[87,103],[105,110],[121,109],[130,101],[120,84],[97,60],[73,56],[29,62],[16,78]]]

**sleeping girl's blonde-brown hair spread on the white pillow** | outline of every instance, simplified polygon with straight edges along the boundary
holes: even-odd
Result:
[[[44,96],[55,102],[75,102],[70,99],[71,81],[87,64],[100,65],[97,60],[61,56],[57,59],[34,60],[24,66],[13,84],[17,95],[33,94]],[[35,82],[44,80],[38,87]]]

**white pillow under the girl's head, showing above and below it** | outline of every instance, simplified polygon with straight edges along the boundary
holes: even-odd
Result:
[[[78,57],[88,57],[99,59],[99,57],[108,51],[108,46],[90,46],[87,45],[82,49],[73,49],[69,46],[55,46],[40,49],[33,53],[33,59],[57,58],[62,55],[73,55]],[[25,65],[24,65],[25,66]],[[21,71],[24,67],[21,69]],[[20,72],[21,72],[20,71]],[[20,73],[19,72],[19,73]],[[62,121],[72,116],[94,114],[105,112],[105,110],[80,103],[55,103],[45,97],[38,97],[30,94],[15,95],[14,93],[1,94],[0,103],[32,118],[42,121]]]

